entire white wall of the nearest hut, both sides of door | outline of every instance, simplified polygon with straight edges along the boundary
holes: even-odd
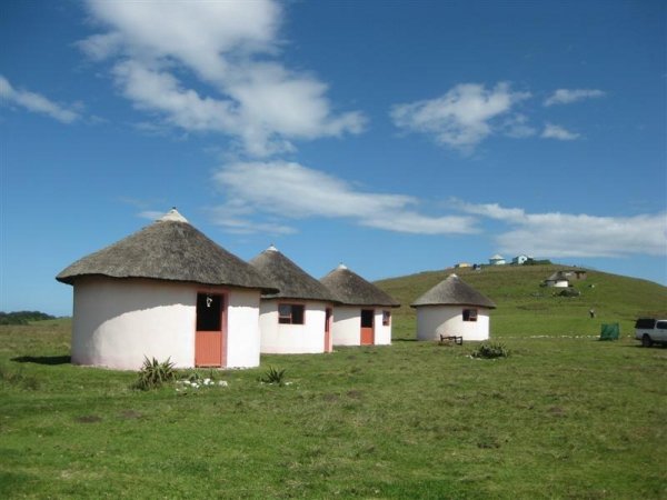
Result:
[[[228,301],[227,367],[259,366],[259,291],[206,290]],[[72,363],[137,370],[146,356],[193,367],[198,291],[202,287],[192,283],[77,279]]]

